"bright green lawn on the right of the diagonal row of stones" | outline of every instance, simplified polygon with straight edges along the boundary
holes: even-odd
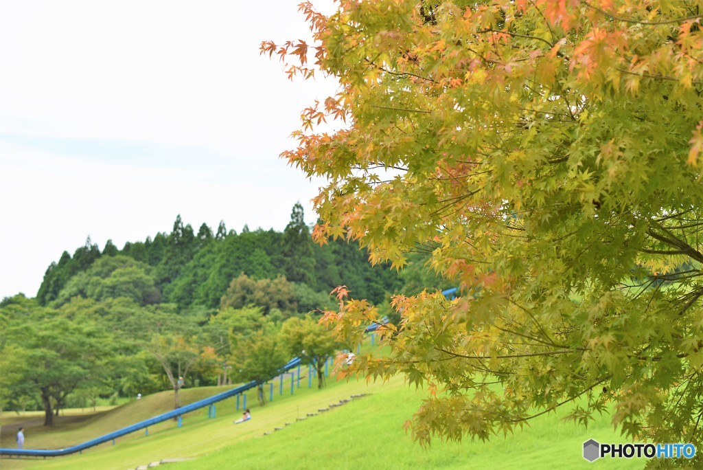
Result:
[[[420,405],[421,395],[402,381],[373,395],[354,400],[284,428],[270,436],[233,444],[192,462],[174,464],[173,470],[207,469],[640,469],[643,461],[599,461],[581,457],[588,438],[619,442],[607,417],[588,431],[542,417],[531,428],[489,443],[434,443],[423,449],[406,435],[403,423]]]

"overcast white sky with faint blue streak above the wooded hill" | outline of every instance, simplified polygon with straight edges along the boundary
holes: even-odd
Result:
[[[178,214],[282,230],[296,201],[314,221],[320,183],[278,155],[335,87],[259,56],[309,35],[298,3],[0,2],[0,298],[35,296],[87,236],[122,248]]]

